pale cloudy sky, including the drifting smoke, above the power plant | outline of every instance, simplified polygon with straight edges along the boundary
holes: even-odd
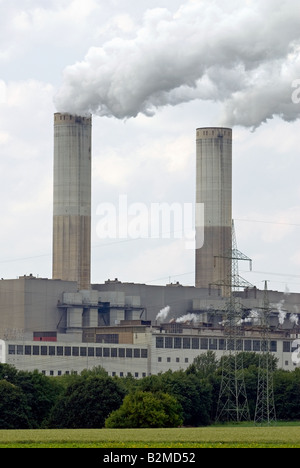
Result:
[[[298,0],[0,0],[0,278],[51,278],[57,111],[93,114],[93,283],[194,285],[153,207],[190,223],[196,129],[228,126],[240,274],[300,292]]]

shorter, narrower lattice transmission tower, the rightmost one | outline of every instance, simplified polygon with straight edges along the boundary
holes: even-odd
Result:
[[[265,282],[264,305],[261,318],[261,352],[259,355],[257,400],[255,408],[255,424],[276,423],[276,410],[273,387],[273,360],[270,352],[270,303],[268,284]]]

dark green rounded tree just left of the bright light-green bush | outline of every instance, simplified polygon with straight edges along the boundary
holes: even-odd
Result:
[[[124,391],[111,377],[87,373],[67,387],[47,425],[69,429],[102,428],[107,416],[121,406],[123,397]]]

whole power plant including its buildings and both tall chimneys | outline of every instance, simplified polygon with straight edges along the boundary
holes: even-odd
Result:
[[[239,349],[259,352],[264,291],[232,276],[233,262],[247,259],[232,250],[232,130],[196,130],[205,225],[195,286],[91,284],[91,130],[91,117],[54,115],[53,278],[0,281],[0,363],[46,375],[100,365],[136,378],[185,369],[201,353],[227,351],[230,294],[242,311]],[[300,294],[270,291],[269,301],[271,352],[280,367],[294,369]]]

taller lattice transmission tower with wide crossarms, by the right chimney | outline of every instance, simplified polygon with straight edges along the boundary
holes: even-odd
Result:
[[[234,224],[232,223],[232,250],[225,252],[222,258],[228,258],[228,275],[223,286],[228,290],[229,298],[224,314],[224,355],[222,359],[222,381],[217,407],[217,421],[236,421],[250,419],[244,368],[242,357],[241,320],[242,308],[235,292],[241,287],[238,261],[251,260],[237,250]],[[243,280],[244,282],[245,280]],[[249,286],[249,283],[247,283]]]

